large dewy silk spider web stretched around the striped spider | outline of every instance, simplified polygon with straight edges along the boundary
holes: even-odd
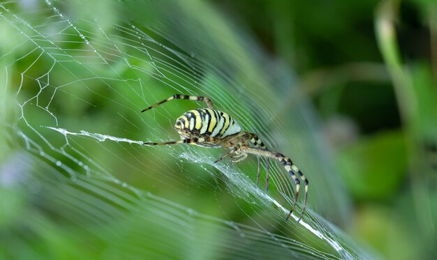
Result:
[[[6,257],[367,257],[328,221],[348,224],[347,195],[290,69],[205,3],[8,1],[0,26],[0,187],[19,201],[3,217]],[[284,221],[294,187],[276,162],[266,192],[256,158],[141,145],[178,139],[175,118],[205,107],[140,113],[174,93],[208,96],[295,161],[310,181],[299,224]]]

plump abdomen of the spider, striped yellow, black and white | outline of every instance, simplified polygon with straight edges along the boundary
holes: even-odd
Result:
[[[235,135],[242,130],[230,115],[209,108],[190,110],[179,116],[175,128],[183,136],[219,139]]]

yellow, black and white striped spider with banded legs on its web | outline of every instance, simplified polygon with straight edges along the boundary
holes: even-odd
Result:
[[[225,155],[221,156],[215,160],[214,163],[223,160],[224,158],[230,156],[232,162],[240,162],[247,158],[248,153],[258,156],[258,174],[256,176],[256,183],[260,179],[260,156],[265,156],[267,158],[266,162],[266,179],[265,188],[269,190],[269,159],[276,159],[281,162],[283,167],[292,176],[296,184],[296,194],[295,200],[292,204],[290,213],[286,217],[286,221],[290,218],[296,202],[299,196],[300,181],[296,174],[300,176],[302,181],[305,183],[305,199],[304,207],[302,208],[302,213],[299,216],[297,222],[302,220],[306,207],[306,197],[308,194],[308,180],[288,158],[282,153],[276,153],[269,151],[265,144],[258,138],[258,135],[251,132],[244,132],[240,127],[239,123],[234,120],[229,114],[213,109],[213,105],[209,98],[198,96],[198,95],[172,95],[170,98],[162,100],[161,102],[142,109],[141,112],[145,112],[149,109],[157,107],[170,100],[198,100],[205,101],[208,108],[200,108],[195,110],[190,110],[179,118],[176,119],[175,130],[181,136],[181,140],[163,143],[152,143],[144,142],[143,144],[147,146],[154,145],[168,145],[168,144],[193,144],[204,147],[223,147],[228,148],[230,151]],[[253,147],[249,147],[249,142]],[[296,174],[295,174],[296,173]]]

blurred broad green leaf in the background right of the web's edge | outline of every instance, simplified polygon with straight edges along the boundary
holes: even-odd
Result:
[[[390,199],[407,173],[405,136],[400,131],[387,131],[364,137],[342,148],[337,162],[355,199]]]

